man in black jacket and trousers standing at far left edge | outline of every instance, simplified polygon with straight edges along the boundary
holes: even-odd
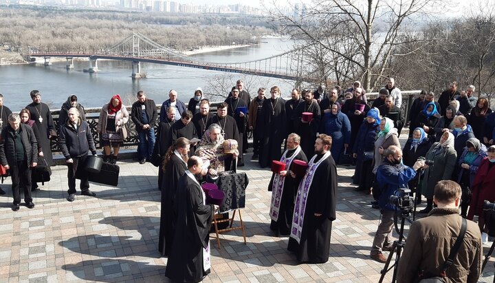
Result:
[[[12,176],[12,210],[18,211],[21,203],[21,178],[26,207],[32,209],[34,204],[31,197],[31,168],[36,167],[38,162],[38,144],[32,128],[21,124],[19,114],[10,114],[8,124],[1,130],[0,163],[5,169],[10,169]]]

